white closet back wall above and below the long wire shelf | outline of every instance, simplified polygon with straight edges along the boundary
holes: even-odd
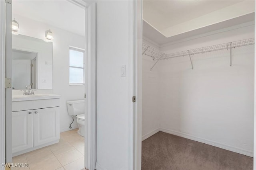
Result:
[[[170,53],[254,37],[254,25],[163,45]],[[253,156],[254,45],[178,57],[160,68],[160,131]],[[154,75],[154,73],[152,74]]]

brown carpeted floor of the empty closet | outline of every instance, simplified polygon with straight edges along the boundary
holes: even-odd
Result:
[[[252,157],[164,132],[142,142],[142,170],[252,169]]]

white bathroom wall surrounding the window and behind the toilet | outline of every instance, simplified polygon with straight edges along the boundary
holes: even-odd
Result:
[[[13,14],[18,21],[20,34],[44,39],[47,29],[51,29],[54,39],[53,43],[53,93],[61,95],[60,98],[60,131],[69,130],[72,119],[68,115],[66,101],[80,100],[84,98],[84,86],[69,86],[69,46],[85,48],[85,38],[80,35],[52,27],[44,23],[24,18]],[[48,91],[47,91],[48,92]],[[40,93],[43,93],[40,90]],[[72,124],[76,128],[76,120]]]

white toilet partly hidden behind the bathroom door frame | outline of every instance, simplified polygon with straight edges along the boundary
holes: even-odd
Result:
[[[85,123],[84,123],[84,100],[73,100],[67,101],[68,114],[71,116],[76,116],[76,121],[78,124],[78,134],[85,136]]]

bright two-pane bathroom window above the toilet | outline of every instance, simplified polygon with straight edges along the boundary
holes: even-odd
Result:
[[[69,48],[69,84],[84,85],[84,50]]]

